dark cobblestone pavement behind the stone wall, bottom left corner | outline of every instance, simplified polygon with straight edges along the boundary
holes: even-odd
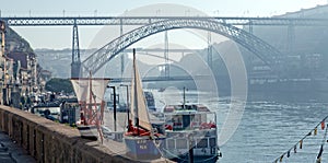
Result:
[[[36,161],[5,132],[0,131],[0,163],[36,163]]]

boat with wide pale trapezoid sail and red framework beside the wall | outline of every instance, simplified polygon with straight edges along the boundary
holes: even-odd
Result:
[[[92,78],[90,72],[89,78],[72,78],[71,83],[80,107],[80,119],[77,120],[77,127],[81,137],[103,142],[104,94],[109,79]]]

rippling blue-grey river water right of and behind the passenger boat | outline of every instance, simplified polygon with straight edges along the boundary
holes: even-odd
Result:
[[[156,106],[161,107],[163,101],[176,100],[180,102],[180,95],[174,96],[156,93]],[[194,93],[195,94],[195,93]],[[172,97],[173,95],[173,97]],[[165,97],[166,96],[166,97]],[[177,100],[179,98],[179,100]],[[187,94],[189,102],[197,101],[197,96]],[[208,105],[218,114],[218,126],[223,128],[225,118],[231,108],[230,97],[209,98]],[[243,116],[232,137],[220,149],[223,156],[220,163],[263,163],[274,162],[290,149],[290,156],[284,154],[282,162],[313,163],[320,150],[325,131],[318,127],[317,135],[303,139],[302,149],[297,143],[311,130],[313,130],[326,116],[328,116],[328,103],[273,100],[256,100],[246,102]],[[328,123],[328,120],[327,120]],[[227,128],[229,128],[229,124]],[[222,135],[223,130],[219,130]],[[326,138],[327,140],[327,138]],[[221,142],[222,143],[222,142]],[[297,145],[296,153],[293,147]],[[279,160],[278,160],[279,162]],[[328,162],[328,143],[324,148],[321,162]]]

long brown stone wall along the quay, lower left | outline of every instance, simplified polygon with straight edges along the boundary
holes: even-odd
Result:
[[[82,139],[78,129],[12,107],[0,106],[0,130],[39,163],[133,162]]]

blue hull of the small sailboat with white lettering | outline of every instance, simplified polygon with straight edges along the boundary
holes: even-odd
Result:
[[[162,156],[159,148],[155,144],[156,141],[161,141],[161,140],[151,140],[149,136],[147,137],[126,136],[124,140],[128,149],[127,154],[131,159],[154,160],[154,159],[160,159]]]

